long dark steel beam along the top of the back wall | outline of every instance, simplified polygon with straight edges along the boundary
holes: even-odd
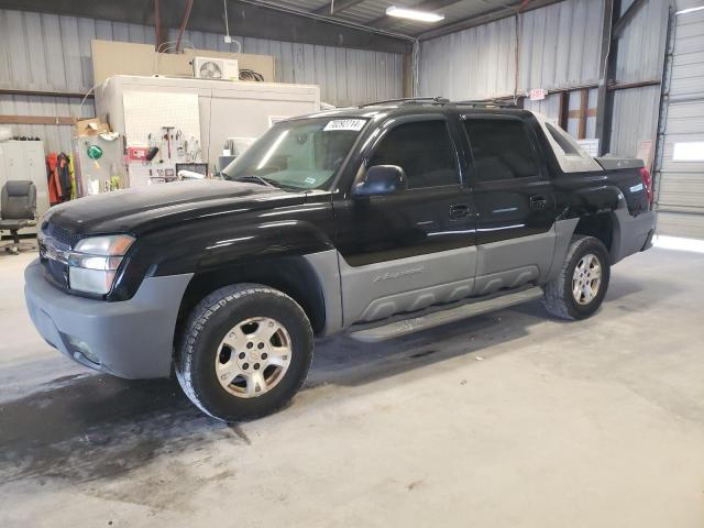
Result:
[[[162,28],[177,29],[186,0],[161,0]],[[154,25],[152,2],[144,0],[0,0],[0,9],[36,11],[142,25]],[[413,42],[341,21],[324,20],[311,13],[293,12],[283,7],[253,1],[229,0],[230,31],[238,36],[353,47],[391,53],[410,53]],[[189,30],[224,34],[221,0],[194,2]]]

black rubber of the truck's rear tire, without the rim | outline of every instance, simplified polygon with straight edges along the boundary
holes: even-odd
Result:
[[[582,257],[592,254],[596,256],[602,268],[601,284],[596,295],[586,304],[580,304],[572,294],[572,278],[574,268]],[[608,289],[610,264],[608,251],[594,237],[574,235],[568,250],[560,274],[544,287],[542,304],[551,315],[560,319],[586,319],[592,316],[604,300]]]

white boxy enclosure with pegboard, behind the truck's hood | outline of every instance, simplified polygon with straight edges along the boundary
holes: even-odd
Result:
[[[96,89],[96,114],[125,135],[128,147],[147,145],[146,131],[154,131],[153,141],[162,127],[175,127],[190,146],[198,142],[195,161],[207,163],[210,170],[228,139],[258,138],[272,121],[318,110],[320,89],[315,85],[120,75]],[[130,164],[130,185],[136,179],[133,173],[144,172],[141,165]],[[161,166],[169,164],[163,161]],[[151,167],[157,168],[154,163]]]

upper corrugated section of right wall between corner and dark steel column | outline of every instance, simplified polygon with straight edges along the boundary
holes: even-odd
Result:
[[[565,0],[520,14],[518,92],[596,84],[602,13],[602,0]],[[515,50],[515,16],[422,42],[420,95],[510,96]]]

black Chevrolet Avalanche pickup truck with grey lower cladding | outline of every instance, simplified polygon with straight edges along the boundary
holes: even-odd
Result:
[[[316,337],[538,296],[588,317],[653,227],[639,161],[594,160],[526,110],[387,101],[279,122],[223,180],[52,208],[25,296],[67,356],[175,371],[200,409],[239,420],[294,396]]]

